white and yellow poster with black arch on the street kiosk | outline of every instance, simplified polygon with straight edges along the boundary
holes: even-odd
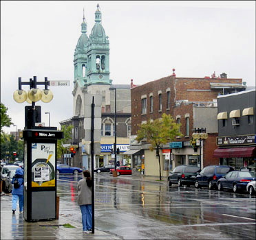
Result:
[[[32,143],[32,187],[55,187],[55,144]]]

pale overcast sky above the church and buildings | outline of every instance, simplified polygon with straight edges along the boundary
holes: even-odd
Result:
[[[175,68],[177,77],[225,72],[255,86],[255,1],[1,1],[1,102],[19,129],[29,104],[12,98],[18,77],[70,80],[70,87],[50,88],[50,103],[36,105],[46,126],[45,112],[58,128],[72,117],[74,49],[83,8],[89,36],[97,3],[109,36],[113,84],[145,84]]]

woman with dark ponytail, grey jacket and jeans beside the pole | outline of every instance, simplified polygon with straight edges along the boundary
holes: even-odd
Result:
[[[83,170],[83,179],[77,184],[78,205],[82,213],[84,233],[92,233],[92,178],[88,170]]]

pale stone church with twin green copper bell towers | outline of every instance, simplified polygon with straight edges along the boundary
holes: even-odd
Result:
[[[94,166],[102,167],[114,163],[114,159],[111,158],[111,148],[114,144],[115,134],[115,102],[116,143],[120,148],[117,160],[120,164],[127,164],[129,156],[124,156],[123,153],[129,148],[131,134],[131,84],[129,84],[129,80],[127,80],[127,84],[117,84],[118,80],[110,79],[109,37],[102,25],[102,13],[99,5],[96,7],[95,23],[91,34],[88,34],[87,27],[83,11],[81,36],[78,38],[74,50],[73,113],[70,119],[60,123],[74,126],[72,140],[66,145],[73,146],[76,149],[76,154],[70,157],[67,152],[61,158],[61,163],[85,169],[90,168],[91,160],[87,147],[89,132],[86,119],[88,120],[88,95],[92,95],[100,99],[100,113],[96,113],[96,117],[101,119],[101,129],[98,131],[100,141],[97,145],[100,150],[98,150],[98,154],[94,155]],[[112,84],[112,82],[116,84]]]

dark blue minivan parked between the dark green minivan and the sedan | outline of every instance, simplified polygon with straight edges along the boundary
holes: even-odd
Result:
[[[209,165],[204,167],[195,178],[195,188],[209,187],[209,189],[217,188],[217,180],[226,175],[226,173],[234,171],[231,166]]]

